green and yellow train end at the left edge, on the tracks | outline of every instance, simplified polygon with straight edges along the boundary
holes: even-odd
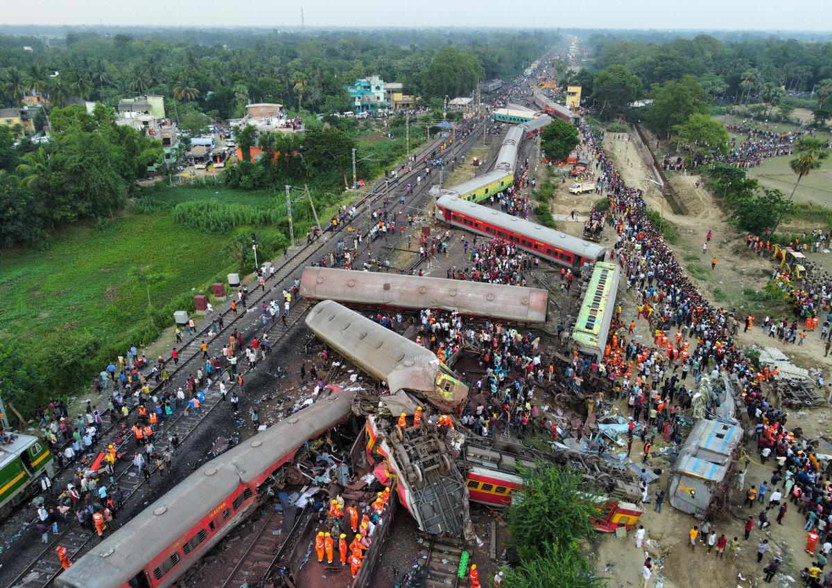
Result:
[[[41,489],[42,473],[54,475],[52,453],[42,439],[11,434],[9,443],[0,443],[0,517]]]

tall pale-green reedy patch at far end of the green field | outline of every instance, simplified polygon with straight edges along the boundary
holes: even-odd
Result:
[[[207,233],[227,233],[246,225],[260,227],[284,222],[273,209],[258,209],[245,204],[226,204],[209,200],[191,200],[176,204],[173,218],[191,228]]]

